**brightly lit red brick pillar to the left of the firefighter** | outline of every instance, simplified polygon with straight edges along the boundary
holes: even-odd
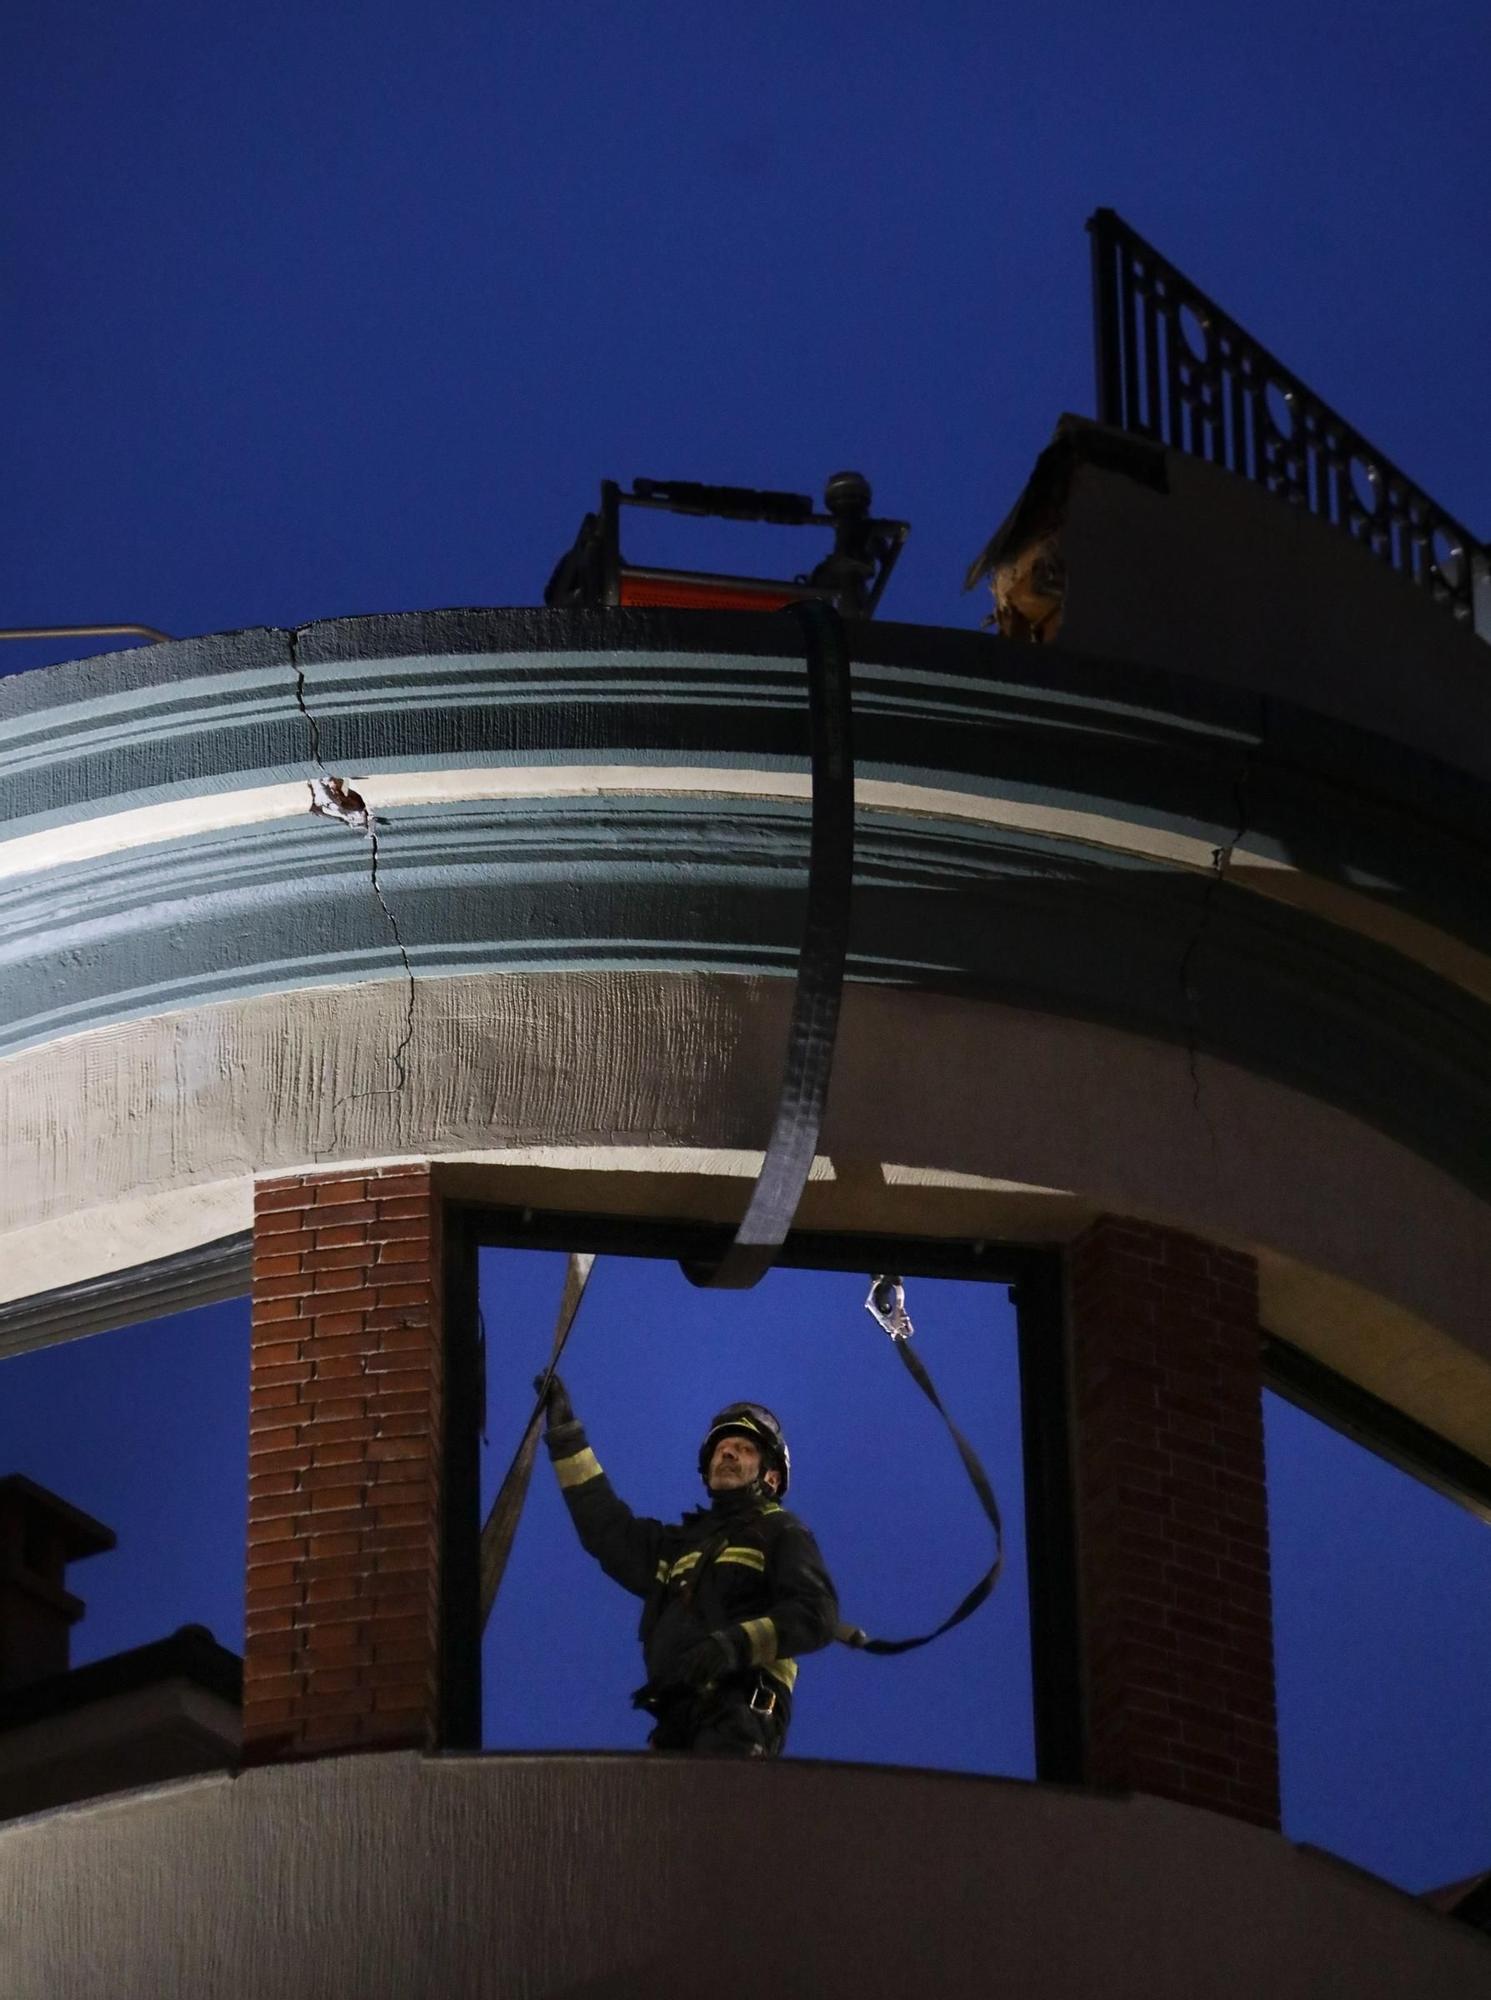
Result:
[[[256,1188],[246,1762],[438,1740],[438,1218],[428,1166]]]

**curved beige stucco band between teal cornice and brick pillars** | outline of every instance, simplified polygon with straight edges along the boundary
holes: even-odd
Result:
[[[378,982],[64,1042],[12,1100],[0,1348],[68,1330],[44,1304],[64,1274],[174,1270],[244,1230],[256,1174],[436,1156],[470,1162],[468,1200],[730,1220],[787,1002],[785,980],[514,974],[418,980],[412,1016]],[[821,1150],[805,1228],[1063,1240],[1107,1208],[1263,1248],[1273,1332],[1491,1458],[1487,1204],[1303,1092],[1089,1022],[853,986]],[[210,1262],[202,1280],[224,1296]],[[36,1294],[42,1320],[20,1310]]]

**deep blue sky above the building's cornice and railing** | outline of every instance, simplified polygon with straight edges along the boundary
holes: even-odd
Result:
[[[1483,0],[16,8],[0,622],[526,604],[604,474],[839,464],[973,622],[1099,204],[1487,534],[1487,74]]]

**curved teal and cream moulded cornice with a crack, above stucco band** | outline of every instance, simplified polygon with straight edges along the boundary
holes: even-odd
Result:
[[[364,980],[787,972],[803,672],[771,618],[432,612],[0,684],[0,1052]],[[851,976],[1271,1076],[1491,1186],[1491,800],[1201,678],[855,634]],[[368,838],[308,814],[336,774]]]

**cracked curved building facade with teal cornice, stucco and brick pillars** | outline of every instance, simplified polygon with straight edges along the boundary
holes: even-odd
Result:
[[[795,1218],[1025,1274],[1033,1786],[476,1754],[474,1246],[740,1216],[791,622],[430,612],[0,686],[0,1342],[254,1298],[242,1768],[0,1830],[10,1992],[1491,1994],[1485,1936],[1279,1834],[1261,1446],[1265,1382],[1355,1394],[1491,1492],[1483,642],[1177,452],[1077,452],[1061,562],[1053,644],[851,628]]]

